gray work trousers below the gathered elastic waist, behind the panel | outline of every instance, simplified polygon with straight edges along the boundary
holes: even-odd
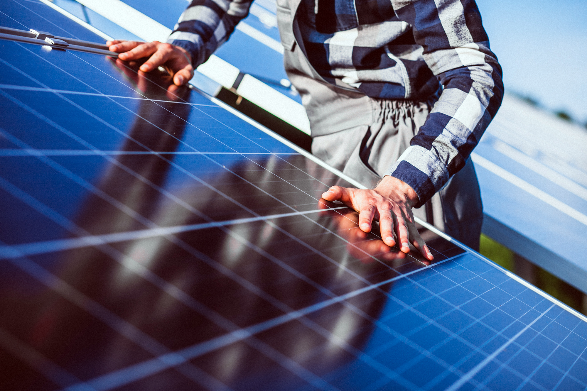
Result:
[[[373,188],[410,146],[411,138],[424,124],[433,103],[372,99],[372,123],[315,136],[312,153],[364,186]],[[358,107],[364,109],[364,106]],[[336,128],[337,124],[330,123],[329,127]],[[343,128],[344,123],[338,127]],[[478,250],[483,204],[471,159],[429,202],[414,209],[413,213]]]

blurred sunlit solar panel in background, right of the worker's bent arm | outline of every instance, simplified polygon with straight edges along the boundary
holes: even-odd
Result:
[[[547,142],[552,134],[559,137]],[[587,160],[579,150],[585,145],[578,125],[506,96],[473,155],[485,234],[583,292]],[[558,247],[566,241],[576,245]]]

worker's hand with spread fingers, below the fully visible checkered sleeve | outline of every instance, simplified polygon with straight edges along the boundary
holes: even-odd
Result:
[[[411,213],[418,195],[404,181],[386,176],[373,190],[332,186],[322,194],[322,198],[341,201],[359,212],[359,228],[362,231],[371,231],[372,221],[379,220],[381,237],[388,246],[393,247],[399,241],[400,250],[409,252],[411,243],[424,258],[434,259],[420,237]]]

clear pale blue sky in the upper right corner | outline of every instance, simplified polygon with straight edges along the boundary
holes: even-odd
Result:
[[[587,123],[587,1],[477,0],[506,90]]]

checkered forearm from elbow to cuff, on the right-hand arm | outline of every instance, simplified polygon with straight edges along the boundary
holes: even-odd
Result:
[[[501,105],[500,69],[485,68],[489,69],[466,71],[479,73],[478,79],[484,79],[483,83],[459,76],[457,70],[451,72],[453,79],[447,82],[426,123],[386,173],[408,183],[416,191],[420,198],[417,207],[464,167]],[[467,85],[472,86],[464,92],[463,87]]]

